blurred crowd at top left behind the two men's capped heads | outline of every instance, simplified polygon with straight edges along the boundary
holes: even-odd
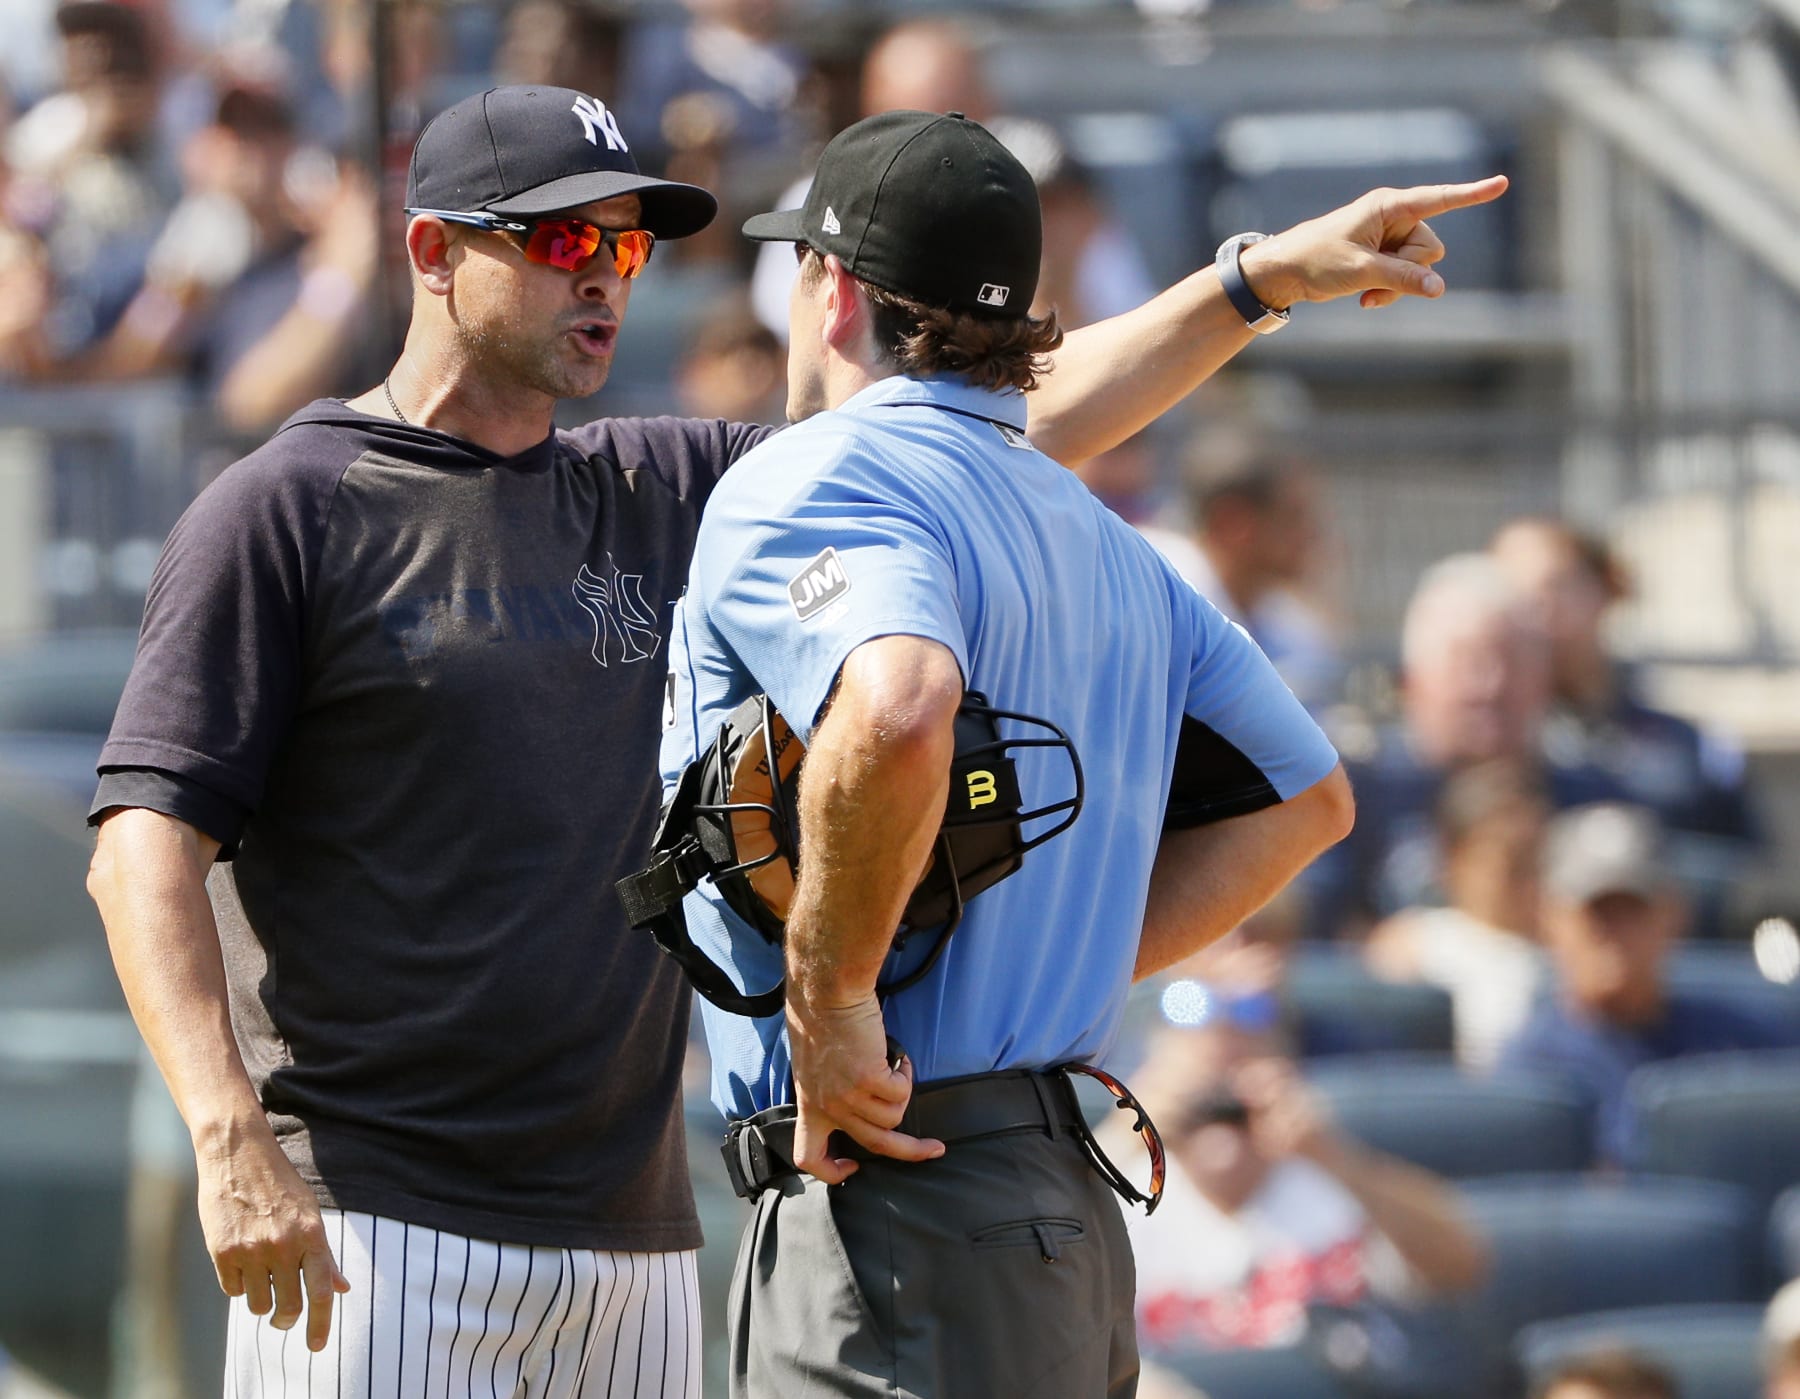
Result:
[[[1150,295],[1057,130],[995,110],[970,32],[803,43],[803,20],[785,0],[639,18],[585,0],[20,0],[0,23],[18,40],[0,43],[0,384],[178,380],[238,438],[365,387],[403,324],[410,144],[491,83],[599,94],[641,167],[720,194],[706,234],[659,250],[693,306],[643,337],[646,357],[677,342],[655,407],[779,418],[792,266],[758,268],[751,295],[736,227],[783,191],[797,203],[794,180],[862,112],[959,108],[1006,133],[1044,191],[1042,295],[1066,320]]]

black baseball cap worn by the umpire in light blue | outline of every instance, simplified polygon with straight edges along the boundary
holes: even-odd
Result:
[[[1003,319],[1030,313],[1044,250],[1031,175],[961,112],[882,112],[844,128],[805,207],[758,214],[743,234],[833,252],[862,281],[927,306]]]

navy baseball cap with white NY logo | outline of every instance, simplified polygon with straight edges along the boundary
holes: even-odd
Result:
[[[637,171],[612,112],[585,92],[488,88],[446,108],[419,133],[407,173],[409,209],[553,214],[637,194],[657,238],[697,234],[718,212],[698,185]]]

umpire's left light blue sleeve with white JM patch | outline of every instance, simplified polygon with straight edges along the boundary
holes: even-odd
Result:
[[[779,519],[725,506],[702,522],[695,567],[713,627],[806,736],[866,641],[927,637],[968,675],[949,544],[904,497],[826,477]]]

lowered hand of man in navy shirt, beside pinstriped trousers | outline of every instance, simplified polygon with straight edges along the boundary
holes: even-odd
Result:
[[[216,1143],[196,1138],[200,1228],[207,1237],[220,1287],[243,1296],[250,1311],[288,1331],[306,1300],[306,1347],[324,1350],[331,1334],[331,1300],[347,1293],[326,1241],[311,1187],[257,1116],[225,1127]]]

